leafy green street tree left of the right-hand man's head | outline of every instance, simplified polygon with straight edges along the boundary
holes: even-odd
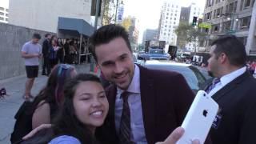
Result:
[[[196,43],[203,40],[206,34],[202,33],[200,30],[194,26],[181,22],[176,28],[175,33],[178,36],[178,46],[185,48],[186,43],[192,42],[194,50],[196,50]]]

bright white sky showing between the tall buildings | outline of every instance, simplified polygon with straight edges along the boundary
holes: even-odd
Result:
[[[160,11],[163,2],[172,0],[123,0],[124,17],[134,16],[138,18],[139,38],[138,43],[142,42],[143,32],[146,29],[158,29]],[[181,6],[190,6],[191,2],[204,8],[206,0],[174,0],[180,2]]]

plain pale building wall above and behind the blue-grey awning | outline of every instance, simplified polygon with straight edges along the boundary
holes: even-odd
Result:
[[[94,26],[90,16],[91,3],[89,0],[10,0],[9,22],[54,33],[57,32],[59,17],[83,19]]]

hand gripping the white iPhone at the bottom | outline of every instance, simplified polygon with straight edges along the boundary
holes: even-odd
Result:
[[[182,127],[176,128],[168,138],[164,142],[157,142],[156,144],[175,144],[178,142],[179,138],[182,138],[182,135],[184,134],[184,129]],[[194,140],[192,144],[200,144],[198,140]]]

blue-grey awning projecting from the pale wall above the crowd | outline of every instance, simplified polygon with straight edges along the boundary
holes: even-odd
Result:
[[[79,34],[90,36],[94,33],[94,27],[88,22],[77,18],[58,18],[58,30],[77,31]]]

